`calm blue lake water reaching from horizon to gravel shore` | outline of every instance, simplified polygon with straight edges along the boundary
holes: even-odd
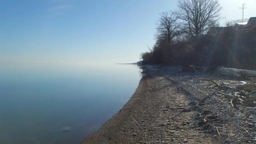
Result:
[[[130,99],[136,65],[0,63],[0,144],[79,144]],[[60,131],[69,126],[70,131]]]

